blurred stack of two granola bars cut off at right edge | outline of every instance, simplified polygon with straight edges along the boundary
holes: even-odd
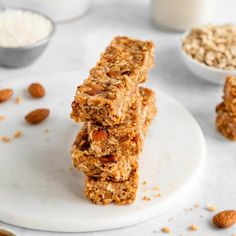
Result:
[[[236,77],[228,76],[223,102],[216,107],[216,127],[228,139],[236,141]]]

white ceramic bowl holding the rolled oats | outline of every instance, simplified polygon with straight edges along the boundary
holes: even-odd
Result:
[[[200,79],[208,80],[215,84],[223,85],[225,83],[225,78],[228,75],[236,75],[236,70],[223,70],[212,66],[207,66],[194,60],[190,55],[188,55],[182,48],[182,42],[190,31],[186,32],[181,38],[180,51],[186,66]]]

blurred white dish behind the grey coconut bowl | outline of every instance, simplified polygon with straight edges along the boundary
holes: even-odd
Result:
[[[4,7],[27,8],[41,12],[55,22],[70,20],[85,14],[90,0],[2,0]]]

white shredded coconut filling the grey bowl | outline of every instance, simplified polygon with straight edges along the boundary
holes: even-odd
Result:
[[[24,47],[52,32],[52,23],[44,16],[18,9],[0,12],[0,47]]]

